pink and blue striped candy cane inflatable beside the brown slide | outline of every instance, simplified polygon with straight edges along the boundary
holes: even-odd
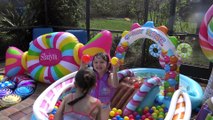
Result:
[[[132,100],[126,105],[123,115],[130,115],[135,111],[140,102],[144,99],[146,94],[156,85],[160,85],[161,79],[159,77],[152,77],[148,79],[133,96]]]

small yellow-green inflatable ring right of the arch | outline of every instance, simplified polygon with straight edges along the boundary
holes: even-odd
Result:
[[[188,43],[181,43],[177,46],[177,53],[182,58],[188,58],[192,54],[192,47]]]

